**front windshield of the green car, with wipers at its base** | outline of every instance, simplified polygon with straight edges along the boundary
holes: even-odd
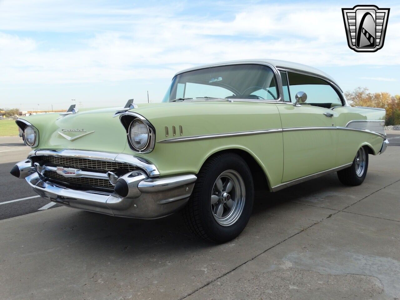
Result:
[[[220,66],[175,76],[162,102],[196,98],[276,100],[278,89],[268,66]]]

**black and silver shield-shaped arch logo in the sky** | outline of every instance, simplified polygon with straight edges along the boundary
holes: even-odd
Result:
[[[344,28],[350,49],[375,52],[383,47],[390,8],[356,5],[342,8]]]

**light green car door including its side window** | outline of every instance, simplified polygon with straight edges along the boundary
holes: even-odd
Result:
[[[281,73],[282,75],[282,73]],[[342,99],[326,81],[305,74],[287,72],[287,104],[278,104],[282,120],[284,170],[282,182],[336,167],[337,113]],[[307,101],[293,106],[297,92],[306,92]],[[290,99],[287,99],[290,98]]]

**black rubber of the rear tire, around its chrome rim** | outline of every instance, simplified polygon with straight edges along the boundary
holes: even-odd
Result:
[[[364,154],[364,169],[360,174],[360,167],[357,163],[357,158],[359,158],[359,154],[362,152]],[[338,178],[342,184],[346,186],[359,186],[367,176],[368,170],[368,150],[365,147],[361,147],[356,154],[356,157],[353,160],[353,164],[343,170],[338,171]]]

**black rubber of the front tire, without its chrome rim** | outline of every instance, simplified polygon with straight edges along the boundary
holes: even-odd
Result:
[[[217,215],[215,214],[214,217],[212,211],[212,205],[220,205],[223,203],[222,198],[220,198],[220,202],[212,204],[210,197],[214,196],[212,192],[215,192],[214,184],[216,184],[216,180],[220,178],[219,176],[223,175],[224,172],[232,171],[235,172],[234,174],[240,175],[244,187],[239,185],[239,188],[236,188],[234,185],[230,193],[234,194],[236,190],[245,190],[244,197],[240,197],[244,199],[244,203],[242,205],[241,214],[234,223],[229,226],[222,226],[217,222]],[[235,199],[233,203],[236,203],[236,201],[239,203],[240,200],[237,200],[236,196]],[[226,198],[224,198],[224,200],[226,200]],[[224,152],[212,156],[204,163],[198,174],[189,202],[182,211],[182,214],[190,232],[210,242],[224,243],[236,238],[246,227],[252,213],[253,202],[254,184],[252,173],[248,165],[238,154]],[[230,208],[225,207],[224,210],[225,209],[227,210],[226,214],[228,214]]]

